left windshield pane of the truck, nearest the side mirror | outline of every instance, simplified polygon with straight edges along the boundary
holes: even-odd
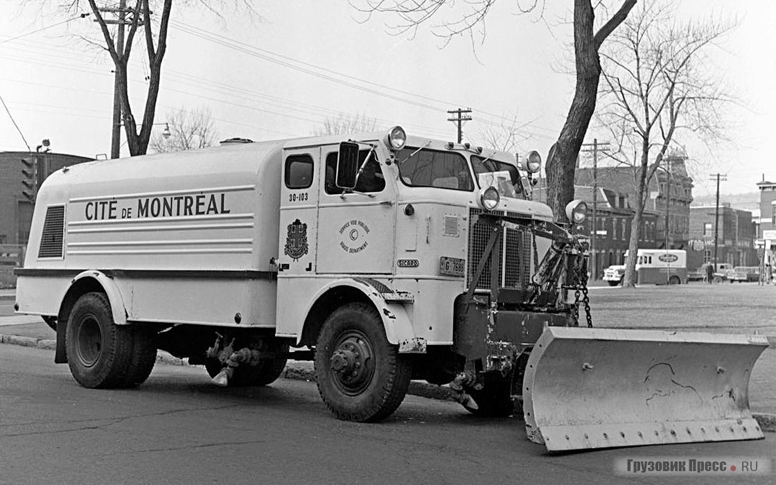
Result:
[[[469,164],[462,154],[404,147],[397,154],[401,181],[411,187],[474,189]]]

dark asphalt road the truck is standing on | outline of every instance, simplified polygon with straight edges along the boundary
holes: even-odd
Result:
[[[157,365],[137,390],[87,390],[51,352],[0,346],[0,485],[40,483],[726,483],[730,476],[615,476],[615,459],[774,456],[756,442],[549,456],[521,421],[407,397],[382,424],[337,421],[313,383],[212,386],[201,368]],[[773,483],[774,475],[735,475]]]

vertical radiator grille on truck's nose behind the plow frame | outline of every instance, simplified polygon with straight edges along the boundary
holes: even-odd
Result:
[[[477,220],[473,222],[483,211],[480,209],[469,210],[469,262],[466,273],[466,286],[472,286],[474,273],[480,258],[485,251],[487,241],[490,239],[490,224]],[[507,214],[518,217],[517,214]],[[506,237],[501,238],[502,251],[499,262],[499,281],[507,288],[527,289],[531,277],[531,234],[523,230],[503,229]],[[504,250],[504,239],[506,248]],[[485,269],[476,282],[478,289],[490,289],[490,261],[485,263]]]

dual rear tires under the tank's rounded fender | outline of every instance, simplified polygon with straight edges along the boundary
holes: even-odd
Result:
[[[68,365],[88,388],[143,383],[156,360],[154,332],[116,325],[104,293],[86,293],[75,302],[65,334]]]

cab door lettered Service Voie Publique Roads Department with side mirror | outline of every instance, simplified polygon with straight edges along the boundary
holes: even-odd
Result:
[[[353,192],[334,184],[338,145],[320,149],[318,200],[318,273],[390,274],[393,272],[396,220],[396,185],[390,168],[359,152],[360,163],[369,157]],[[359,193],[360,192],[360,193]]]

